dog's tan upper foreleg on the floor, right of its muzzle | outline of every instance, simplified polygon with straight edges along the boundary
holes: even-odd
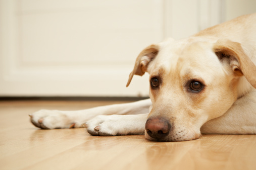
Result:
[[[201,127],[204,134],[256,134],[256,90],[238,99],[221,117]]]

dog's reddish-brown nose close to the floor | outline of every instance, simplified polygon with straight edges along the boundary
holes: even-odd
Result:
[[[148,118],[145,129],[147,134],[155,139],[163,139],[166,137],[171,129],[171,124],[164,118]]]

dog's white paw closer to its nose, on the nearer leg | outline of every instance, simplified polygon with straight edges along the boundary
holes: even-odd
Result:
[[[121,125],[118,121],[119,118],[119,115],[100,115],[82,124],[82,126],[86,127],[88,133],[93,136],[125,135],[120,133]]]

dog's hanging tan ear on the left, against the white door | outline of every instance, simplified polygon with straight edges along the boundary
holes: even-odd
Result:
[[[158,52],[159,46],[155,44],[146,47],[144,50],[140,52],[135,61],[134,68],[129,75],[126,87],[129,86],[134,74],[142,76],[147,71],[148,63],[158,55]]]

